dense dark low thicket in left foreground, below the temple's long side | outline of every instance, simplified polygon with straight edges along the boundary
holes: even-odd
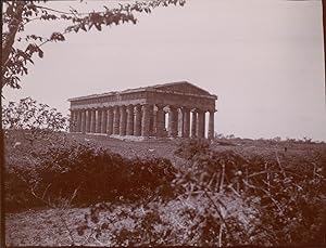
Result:
[[[32,154],[37,162],[33,169],[12,165],[7,172],[8,210],[55,207],[72,197],[72,204],[83,206],[174,194],[171,184],[176,170],[164,158],[127,159],[74,142]]]

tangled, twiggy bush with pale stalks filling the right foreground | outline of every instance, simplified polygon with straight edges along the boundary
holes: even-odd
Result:
[[[97,240],[115,246],[325,243],[325,154],[314,162],[297,158],[283,165],[277,155],[274,160],[243,157],[195,140],[180,143],[176,154],[188,170],[177,172],[174,200],[136,204],[134,209],[146,209],[143,214],[121,211],[117,217],[131,220],[131,229],[100,221],[100,213],[113,212],[114,206],[97,205],[79,235],[93,231]]]

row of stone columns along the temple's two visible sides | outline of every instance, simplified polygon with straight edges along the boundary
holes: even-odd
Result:
[[[109,135],[204,138],[205,110],[170,106],[165,130],[163,105],[116,105],[105,108],[73,109],[71,132]],[[190,123],[190,113],[192,121]],[[190,129],[191,128],[191,129]],[[209,139],[214,136],[214,110],[210,112]]]

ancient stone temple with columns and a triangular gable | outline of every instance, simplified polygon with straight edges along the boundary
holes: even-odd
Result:
[[[187,81],[70,99],[71,132],[156,138],[214,136],[217,96]],[[167,115],[167,116],[166,116]]]

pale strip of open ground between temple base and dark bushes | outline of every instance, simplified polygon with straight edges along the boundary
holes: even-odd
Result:
[[[101,147],[118,153],[124,157],[165,157],[173,162],[177,157],[174,152],[183,139],[149,139],[148,141],[118,140],[102,135],[90,134],[71,134],[72,139],[78,141],[87,141]],[[222,143],[222,142],[221,142]],[[271,142],[259,140],[235,140],[229,142],[211,142],[211,146],[216,151],[233,151],[242,156],[261,155],[265,158],[296,158],[306,157],[313,158],[317,153],[326,152],[326,144],[294,144],[286,142]]]

